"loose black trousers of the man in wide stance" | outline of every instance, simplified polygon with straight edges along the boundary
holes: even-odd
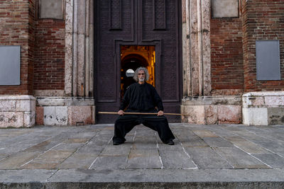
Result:
[[[157,115],[121,115],[114,124],[114,142],[125,142],[125,135],[130,132],[136,125],[143,124],[158,132],[160,139],[164,143],[175,139],[173,132],[170,130],[168,120],[165,116]]]

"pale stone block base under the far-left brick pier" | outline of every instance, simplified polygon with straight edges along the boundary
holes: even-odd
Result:
[[[0,96],[0,127],[33,127],[35,98],[33,96]]]

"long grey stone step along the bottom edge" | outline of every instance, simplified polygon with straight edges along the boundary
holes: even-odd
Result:
[[[0,171],[0,188],[283,188],[284,170],[60,169]]]

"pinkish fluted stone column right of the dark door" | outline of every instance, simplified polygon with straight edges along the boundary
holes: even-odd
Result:
[[[183,96],[211,92],[210,1],[182,1]]]

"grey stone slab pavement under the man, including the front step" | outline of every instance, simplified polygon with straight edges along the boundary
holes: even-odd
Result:
[[[284,126],[170,124],[0,130],[0,188],[284,188]]]

